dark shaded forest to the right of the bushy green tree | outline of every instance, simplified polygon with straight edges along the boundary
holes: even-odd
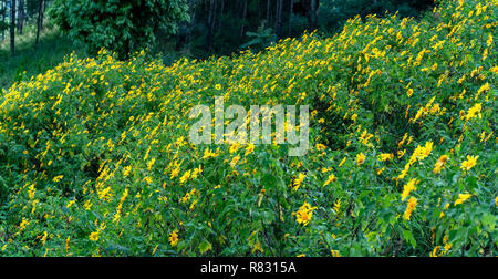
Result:
[[[195,21],[183,23],[177,49],[188,41],[188,54],[195,58],[262,50],[274,35],[284,39],[305,30],[331,34],[356,14],[383,17],[400,10],[402,16],[417,16],[432,4],[433,0],[189,0]]]

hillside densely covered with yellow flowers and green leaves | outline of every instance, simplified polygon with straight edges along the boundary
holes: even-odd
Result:
[[[0,97],[0,256],[498,256],[497,8],[170,66],[71,55]],[[191,144],[220,95],[310,105],[310,151]]]

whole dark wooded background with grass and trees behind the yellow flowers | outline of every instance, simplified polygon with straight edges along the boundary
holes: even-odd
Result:
[[[286,38],[332,35],[356,14],[421,17],[432,0],[0,0],[0,87],[45,71],[64,55],[102,48],[126,59],[146,49],[166,63]],[[111,39],[110,39],[111,38]]]

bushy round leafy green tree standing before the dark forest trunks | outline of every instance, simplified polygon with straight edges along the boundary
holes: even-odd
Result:
[[[55,0],[51,16],[90,54],[101,48],[121,59],[153,46],[157,31],[176,33],[188,20],[186,0]]]

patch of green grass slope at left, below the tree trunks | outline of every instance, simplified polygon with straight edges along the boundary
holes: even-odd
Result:
[[[44,73],[64,60],[65,55],[75,51],[74,44],[64,38],[59,30],[48,28],[38,45],[34,27],[28,27],[23,35],[15,40],[15,54],[10,55],[10,40],[0,41],[0,89],[8,89],[14,82]]]

